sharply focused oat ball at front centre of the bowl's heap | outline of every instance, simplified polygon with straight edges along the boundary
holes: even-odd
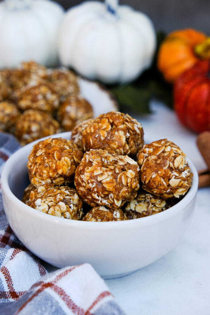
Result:
[[[76,169],[74,184],[79,196],[91,207],[117,209],[136,197],[139,166],[127,155],[90,150]]]

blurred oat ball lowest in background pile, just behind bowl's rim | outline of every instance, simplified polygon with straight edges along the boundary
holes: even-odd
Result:
[[[60,132],[59,123],[45,112],[29,109],[16,120],[14,135],[22,146]]]

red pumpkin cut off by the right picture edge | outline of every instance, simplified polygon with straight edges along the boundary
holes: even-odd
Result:
[[[200,133],[210,131],[210,66],[199,61],[183,72],[174,85],[174,107],[180,121]]]

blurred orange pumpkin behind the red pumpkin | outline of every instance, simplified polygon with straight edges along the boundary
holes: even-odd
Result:
[[[166,81],[173,83],[200,60],[195,50],[206,39],[205,34],[190,28],[174,31],[165,38],[158,52],[157,67]]]

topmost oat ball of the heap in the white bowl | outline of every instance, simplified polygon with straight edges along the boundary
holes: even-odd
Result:
[[[128,114],[108,112],[99,115],[82,132],[86,151],[102,149],[133,156],[144,145],[142,125]]]

